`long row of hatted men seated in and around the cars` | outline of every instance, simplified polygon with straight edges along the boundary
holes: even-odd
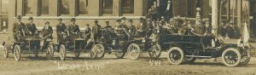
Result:
[[[38,29],[33,23],[32,17],[29,17],[29,23],[24,24],[21,22],[21,16],[16,17],[17,22],[14,24],[13,32],[15,41],[20,41],[20,36],[37,36]],[[76,20],[72,18],[71,24],[66,26],[62,23],[62,19],[58,19],[58,24],[56,25],[57,40],[58,43],[61,42],[61,33],[67,33],[68,36],[80,35],[79,25],[76,24]],[[137,26],[134,26],[133,20],[128,20],[128,25],[126,25],[126,18],[116,20],[116,25],[114,27],[110,26],[109,21],[106,21],[106,26],[102,27],[98,24],[98,20],[94,21],[94,26],[90,28],[89,24],[86,24],[86,28],[83,34],[85,41],[89,38],[93,38],[93,41],[99,42],[102,37],[102,29],[108,30],[106,39],[111,39],[113,36],[116,40],[125,40],[134,37],[148,38],[153,33],[156,34],[156,40],[160,41],[161,34],[179,34],[179,35],[211,35],[212,26],[209,20],[198,20],[198,25],[193,25],[190,20],[181,20],[178,17],[173,17],[170,20],[166,20],[161,17],[161,20],[153,20],[151,18],[140,18],[140,22]],[[239,28],[232,25],[233,23],[222,23],[219,28],[220,36],[224,38],[237,38],[240,37]],[[52,39],[53,29],[49,26],[49,21],[45,22],[44,29],[41,34],[44,38]],[[128,38],[129,37],[129,38]],[[22,38],[22,37],[21,37]],[[110,42],[110,40],[107,40]]]

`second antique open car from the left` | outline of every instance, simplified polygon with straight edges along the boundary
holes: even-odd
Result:
[[[66,60],[67,53],[74,54],[75,58],[79,58],[80,53],[83,51],[90,51],[90,58],[96,58],[96,49],[94,49],[95,51],[90,50],[94,42],[86,44],[84,38],[79,33],[75,32],[72,34],[61,32],[60,35],[61,38],[58,40],[58,44],[56,44],[56,52],[60,54],[61,61]]]

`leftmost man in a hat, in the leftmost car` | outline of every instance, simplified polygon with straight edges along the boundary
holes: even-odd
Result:
[[[20,36],[25,36],[26,26],[24,23],[21,22],[21,16],[16,16],[16,22],[13,25],[13,36],[15,38],[15,41],[20,41]]]

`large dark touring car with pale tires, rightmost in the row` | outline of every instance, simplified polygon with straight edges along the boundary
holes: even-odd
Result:
[[[225,66],[245,65],[250,61],[247,46],[240,39],[173,34],[166,34],[163,39],[164,49],[169,49],[167,59],[174,65],[217,57],[222,58]]]

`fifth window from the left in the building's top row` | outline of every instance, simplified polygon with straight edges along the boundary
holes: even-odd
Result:
[[[102,14],[113,14],[113,0],[102,1]]]

